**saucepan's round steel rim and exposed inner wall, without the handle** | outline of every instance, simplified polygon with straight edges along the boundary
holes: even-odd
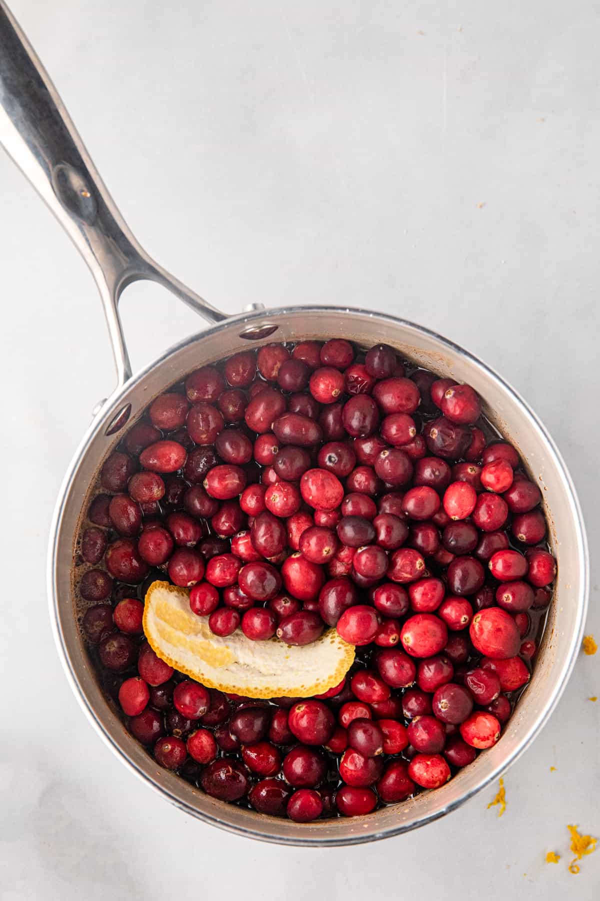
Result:
[[[71,585],[75,540],[103,460],[150,401],[202,365],[269,341],[346,338],[363,347],[385,342],[417,365],[457,382],[469,382],[484,400],[484,414],[521,453],[542,488],[549,541],[559,561],[555,595],[533,678],[500,742],[434,792],[422,792],[372,815],[314,824],[258,815],[204,795],[160,768],[128,733],[106,701],[90,665],[78,625]],[[109,433],[107,433],[109,432]],[[577,497],[558,451],[533,413],[506,382],[479,360],[433,332],[385,314],[304,307],[237,316],[167,350],[117,392],[85,435],[67,474],[50,547],[49,587],[59,649],[76,695],[103,738],[148,784],[186,812],[222,828],[291,844],[366,842],[405,832],[458,806],[497,778],[540,729],[560,696],[581,640],[587,597],[587,551]]]

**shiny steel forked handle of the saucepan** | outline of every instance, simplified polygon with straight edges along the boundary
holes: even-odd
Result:
[[[136,241],[4,0],[0,0],[0,143],[92,271],[120,385],[130,378],[131,369],[118,303],[131,282],[157,281],[210,322],[227,318],[158,266]]]

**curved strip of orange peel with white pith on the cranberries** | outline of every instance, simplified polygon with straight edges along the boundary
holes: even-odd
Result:
[[[272,638],[253,642],[241,629],[210,632],[209,617],[190,609],[190,593],[153,582],[146,593],[144,633],[161,660],[209,688],[246,697],[311,697],[338,685],[354,662],[354,645],[328,629],[301,647]]]

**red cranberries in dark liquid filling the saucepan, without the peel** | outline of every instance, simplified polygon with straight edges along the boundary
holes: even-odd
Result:
[[[468,385],[384,344],[267,344],[157,397],[99,491],[76,560],[83,627],[166,769],[308,822],[440,787],[498,741],[556,564],[540,489]],[[145,591],[166,577],[216,635],[300,645],[334,627],[354,666],[310,699],[207,689],[143,639]]]

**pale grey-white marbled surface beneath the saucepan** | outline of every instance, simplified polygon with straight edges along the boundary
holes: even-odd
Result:
[[[170,8],[169,8],[170,7]],[[587,517],[600,635],[598,56],[593,0],[13,0],[148,250],[215,305],[389,310],[500,370],[558,441]],[[4,441],[0,898],[597,896],[600,655],[506,776],[443,821],[353,849],[219,833],[132,778],[60,669],[45,599],[59,481],[112,387],[84,264],[0,158]],[[134,361],[198,322],[124,301]],[[556,772],[551,773],[551,766]],[[564,856],[543,862],[546,851]]]

